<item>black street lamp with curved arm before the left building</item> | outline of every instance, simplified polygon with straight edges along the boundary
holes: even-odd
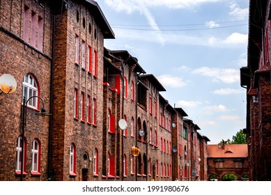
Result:
[[[26,126],[26,105],[28,104],[29,100],[31,100],[32,98],[39,98],[42,101],[42,109],[40,110],[40,112],[36,113],[36,115],[38,116],[49,116],[51,114],[47,113],[45,110],[45,106],[44,106],[44,101],[42,100],[42,98],[40,98],[40,96],[38,95],[33,95],[32,97],[30,97],[28,100],[25,100],[26,98],[23,98],[23,104],[22,104],[22,163],[21,163],[21,181],[23,180],[24,177],[24,128]]]

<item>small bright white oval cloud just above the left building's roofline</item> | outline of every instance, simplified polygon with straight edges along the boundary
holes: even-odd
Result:
[[[163,86],[178,88],[187,85],[180,77],[173,77],[171,75],[160,75],[157,79]]]

